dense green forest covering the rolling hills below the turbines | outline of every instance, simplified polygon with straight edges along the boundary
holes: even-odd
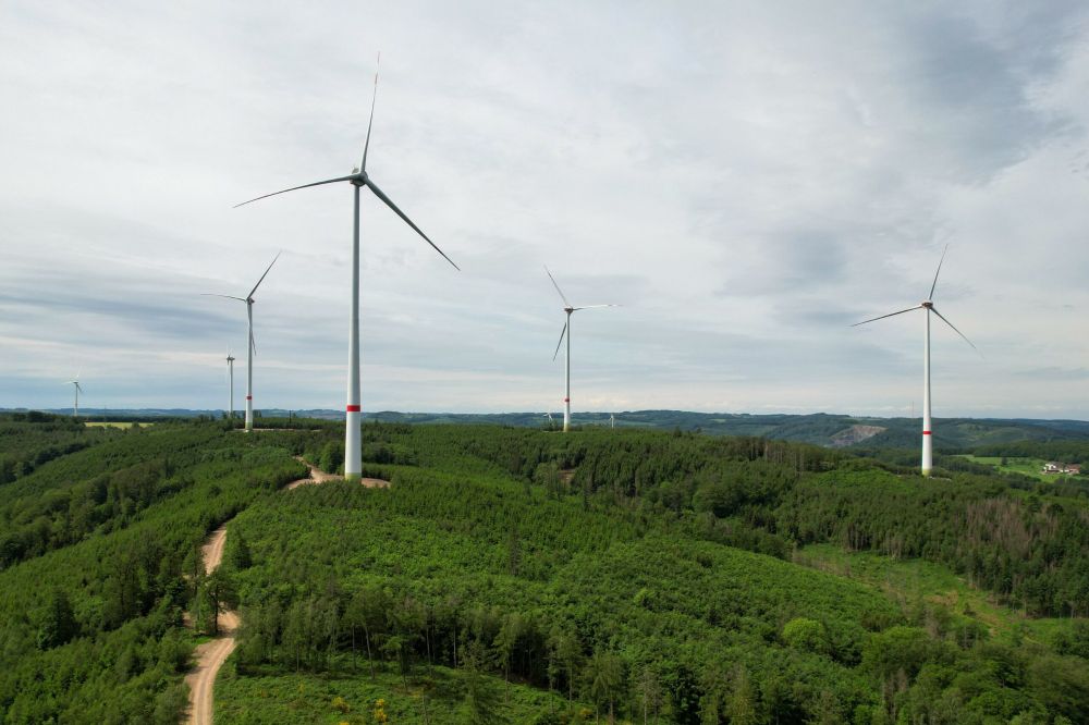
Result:
[[[680,428],[0,417],[0,721],[1089,722],[1089,487]],[[880,441],[876,441],[880,443]],[[1085,460],[1086,443],[980,443]],[[224,564],[200,546],[227,524]]]

